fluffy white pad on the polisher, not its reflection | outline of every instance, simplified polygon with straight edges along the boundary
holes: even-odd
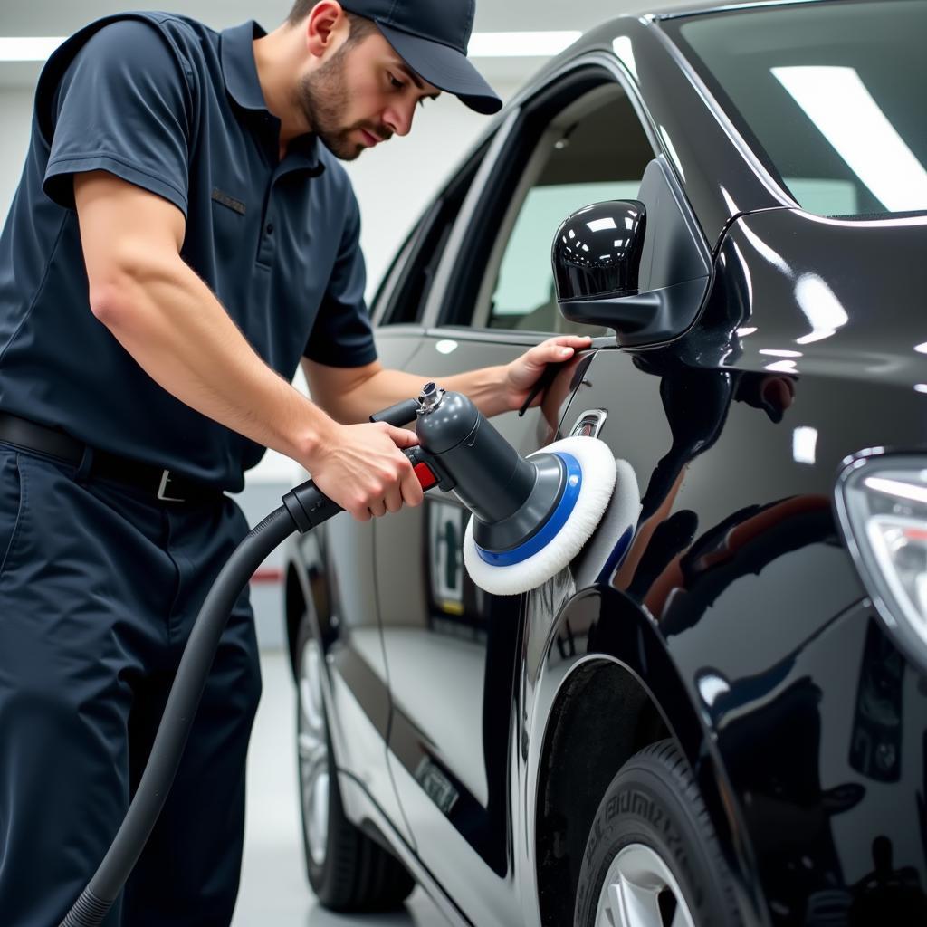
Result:
[[[518,595],[535,589],[559,573],[590,539],[612,498],[616,463],[608,445],[598,438],[564,438],[538,453],[565,451],[572,454],[582,472],[573,511],[555,537],[540,551],[518,564],[488,564],[476,550],[471,516],[464,534],[464,565],[480,589],[493,595]],[[534,454],[531,455],[532,457]]]

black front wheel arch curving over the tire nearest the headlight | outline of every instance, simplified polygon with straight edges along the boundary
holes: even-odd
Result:
[[[558,639],[567,629],[572,641],[585,638],[586,646],[580,642],[565,658]],[[542,924],[572,923],[582,855],[608,784],[630,756],[667,737],[692,768],[739,902],[755,913],[756,923],[768,920],[756,899],[753,850],[712,732],[649,616],[616,590],[580,593],[549,636],[537,697],[544,730],[529,813]]]

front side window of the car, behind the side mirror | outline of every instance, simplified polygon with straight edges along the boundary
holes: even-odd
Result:
[[[476,300],[473,324],[549,333],[603,334],[557,308],[551,243],[572,212],[637,197],[654,152],[617,84],[599,87],[555,115],[511,190]]]

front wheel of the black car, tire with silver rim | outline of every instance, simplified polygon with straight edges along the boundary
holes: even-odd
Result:
[[[575,927],[740,927],[732,883],[673,741],[618,770],[590,828]]]

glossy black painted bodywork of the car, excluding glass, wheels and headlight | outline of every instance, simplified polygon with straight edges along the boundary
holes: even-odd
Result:
[[[569,569],[514,599],[465,576],[450,496],[300,541],[287,615],[308,609],[324,641],[349,814],[452,921],[570,923],[599,796],[672,736],[745,924],[927,922],[927,673],[875,615],[832,504],[847,458],[927,447],[927,219],[794,209],[658,19],[591,32],[491,132],[517,136],[519,108],[571,63],[624,82],[706,275],[671,340],[597,339],[539,409],[493,424],[525,454],[607,413],[599,437],[633,468],[641,515],[628,538],[606,513]],[[389,274],[378,317],[423,268],[429,282],[419,324],[378,328],[387,365],[439,379],[543,337],[440,327],[454,274],[416,264],[415,241],[437,235],[481,273],[496,230],[471,219],[499,196],[506,144],[477,146],[474,201],[452,182],[450,219],[438,197]]]

